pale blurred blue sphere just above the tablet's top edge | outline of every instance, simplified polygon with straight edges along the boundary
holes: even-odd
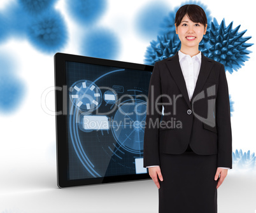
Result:
[[[115,59],[120,50],[117,36],[108,29],[91,30],[82,43],[82,54],[89,57]]]

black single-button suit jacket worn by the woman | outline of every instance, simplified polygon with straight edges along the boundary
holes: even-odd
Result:
[[[198,155],[217,154],[217,167],[232,168],[231,113],[225,68],[203,53],[201,56],[191,101],[178,52],[155,63],[148,90],[143,167],[160,165],[159,152],[179,155],[190,144]]]

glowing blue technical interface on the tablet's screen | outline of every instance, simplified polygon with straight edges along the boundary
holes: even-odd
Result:
[[[68,179],[143,174],[151,72],[66,62]]]

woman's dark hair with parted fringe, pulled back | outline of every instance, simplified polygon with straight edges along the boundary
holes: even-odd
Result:
[[[206,27],[206,24],[207,24],[206,14],[204,13],[203,8],[201,8],[196,4],[185,4],[180,7],[180,9],[176,12],[176,16],[175,16],[176,27],[180,25],[182,18],[186,14],[188,15],[188,18],[192,20],[192,22],[201,23],[204,25],[204,27]]]

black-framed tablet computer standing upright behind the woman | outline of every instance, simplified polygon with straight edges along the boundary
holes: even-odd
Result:
[[[56,53],[59,188],[150,179],[143,168],[153,66]]]

